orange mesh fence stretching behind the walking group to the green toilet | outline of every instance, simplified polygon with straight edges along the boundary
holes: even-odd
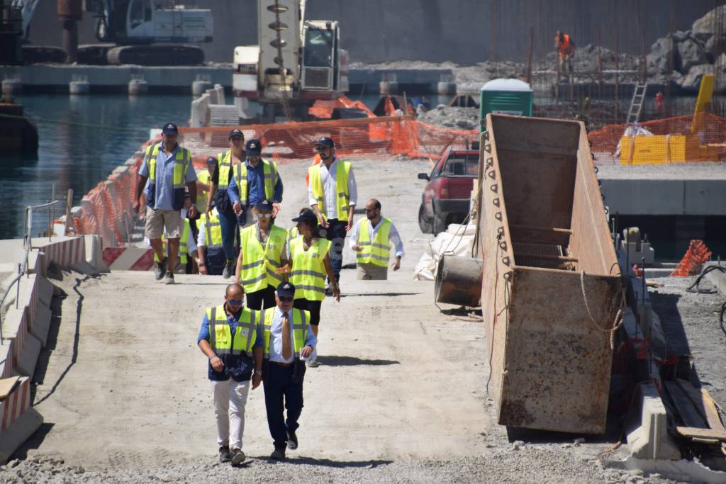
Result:
[[[277,160],[314,157],[315,141],[330,136],[340,157],[388,160],[396,156],[438,158],[449,145],[464,147],[478,139],[476,130],[440,128],[409,116],[386,116],[310,123],[276,123],[238,126],[245,139],[259,139],[263,156]],[[184,146],[199,155],[216,155],[227,148],[233,126],[180,128]]]

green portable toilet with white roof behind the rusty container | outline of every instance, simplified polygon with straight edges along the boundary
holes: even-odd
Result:
[[[528,83],[518,79],[494,79],[481,88],[479,119],[483,120],[490,112],[531,116],[532,98]],[[481,123],[479,126],[481,129]]]

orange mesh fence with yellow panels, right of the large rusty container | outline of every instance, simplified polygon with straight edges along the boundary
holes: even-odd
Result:
[[[726,159],[726,119],[708,112],[634,125],[616,124],[588,136],[597,161],[664,165]]]

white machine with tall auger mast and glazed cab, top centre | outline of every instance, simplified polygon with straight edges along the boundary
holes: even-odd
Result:
[[[317,99],[348,90],[348,52],[334,20],[304,20],[305,0],[258,0],[256,46],[234,48],[232,94],[262,106],[262,123],[306,120]],[[244,102],[242,102],[244,100]]]

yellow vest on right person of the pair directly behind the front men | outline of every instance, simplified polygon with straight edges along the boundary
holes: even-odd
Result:
[[[325,299],[325,255],[332,242],[314,239],[308,250],[303,248],[303,237],[290,241],[290,283],[295,286],[295,299],[322,301]]]

